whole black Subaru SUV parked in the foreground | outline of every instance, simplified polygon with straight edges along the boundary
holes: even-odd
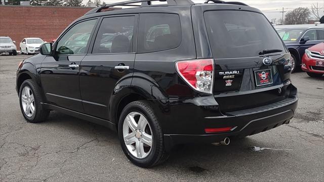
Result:
[[[24,60],[24,118],[41,122],[56,110],[116,130],[141,167],[178,144],[226,145],[289,123],[298,101],[291,55],[259,10],[155,1],[95,8]]]

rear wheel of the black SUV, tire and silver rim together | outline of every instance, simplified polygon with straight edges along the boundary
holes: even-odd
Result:
[[[169,156],[165,151],[162,128],[146,101],[132,102],[123,109],[118,135],[125,155],[139,167],[152,167]]]

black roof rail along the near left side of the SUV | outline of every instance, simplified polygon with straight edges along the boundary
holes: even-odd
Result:
[[[194,5],[194,3],[191,0],[132,0],[132,1],[103,5],[101,7],[94,8],[94,9],[90,10],[85,15],[99,13],[99,12],[101,12],[101,10],[112,8],[115,6],[147,7],[147,6],[150,6],[151,2],[154,2],[154,1],[155,2],[167,2],[168,5]],[[142,5],[131,5],[131,4],[135,4],[135,3],[142,3]]]

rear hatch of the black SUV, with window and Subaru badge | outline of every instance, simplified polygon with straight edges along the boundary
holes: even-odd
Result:
[[[289,96],[290,54],[263,14],[212,10],[204,12],[204,19],[221,111],[264,106]]]

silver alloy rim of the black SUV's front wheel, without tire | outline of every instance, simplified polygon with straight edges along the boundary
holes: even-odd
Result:
[[[35,99],[29,86],[25,86],[21,92],[21,105],[24,113],[28,117],[32,117],[35,113]]]

